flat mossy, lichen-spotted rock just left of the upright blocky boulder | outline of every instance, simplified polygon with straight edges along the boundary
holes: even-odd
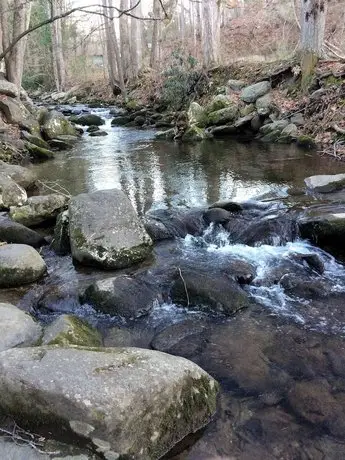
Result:
[[[10,208],[10,217],[27,227],[54,221],[67,206],[69,198],[52,193],[51,195],[32,196],[25,206]]]

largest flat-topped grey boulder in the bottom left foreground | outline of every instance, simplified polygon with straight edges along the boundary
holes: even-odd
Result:
[[[67,428],[105,458],[158,460],[204,427],[218,385],[196,364],[138,348],[0,354],[0,406],[18,423]]]

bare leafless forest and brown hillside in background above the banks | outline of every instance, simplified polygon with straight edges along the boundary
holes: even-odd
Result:
[[[3,61],[26,89],[109,82],[125,94],[138,76],[284,60],[310,44],[318,57],[344,59],[345,8],[343,0],[2,0],[0,32],[0,58],[25,34]]]

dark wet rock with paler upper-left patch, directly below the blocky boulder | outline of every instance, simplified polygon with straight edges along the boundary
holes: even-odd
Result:
[[[120,275],[91,284],[81,300],[112,316],[139,318],[150,312],[159,297],[159,289],[145,278]]]

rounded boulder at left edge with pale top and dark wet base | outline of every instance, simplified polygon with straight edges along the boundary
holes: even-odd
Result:
[[[0,287],[21,286],[37,281],[47,267],[39,253],[25,244],[0,246]]]

